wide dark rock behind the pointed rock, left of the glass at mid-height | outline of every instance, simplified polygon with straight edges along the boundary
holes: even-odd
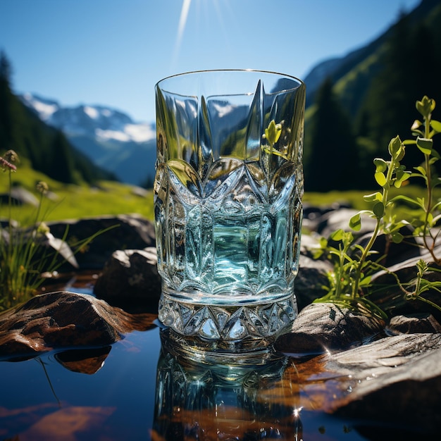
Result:
[[[137,214],[48,222],[47,225],[55,237],[63,237],[68,228],[66,240],[71,246],[72,242],[87,239],[99,231],[114,227],[97,235],[84,252],[75,254],[80,269],[103,268],[116,250],[144,249],[156,245],[153,223]]]

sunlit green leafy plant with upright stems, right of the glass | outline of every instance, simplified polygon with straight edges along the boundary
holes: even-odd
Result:
[[[375,228],[366,246],[354,242],[354,235],[351,231],[337,230],[330,235],[330,240],[321,239],[321,247],[316,251],[316,258],[325,254],[333,262],[334,271],[328,273],[329,285],[325,287],[328,294],[316,302],[335,302],[352,306],[357,309],[367,309],[385,318],[386,314],[380,307],[368,299],[369,288],[371,287],[371,276],[375,271],[387,268],[381,265],[384,256],[373,259],[373,244],[378,235],[384,234],[387,240],[399,243],[406,239],[402,235],[404,225],[412,225],[412,234],[422,240],[423,247],[428,249],[434,263],[440,266],[441,258],[435,256],[435,245],[440,234],[437,223],[441,220],[441,200],[435,199],[434,189],[441,184],[441,179],[433,173],[433,164],[440,159],[440,155],[433,149],[433,137],[441,132],[441,123],[432,119],[432,112],[435,109],[435,100],[423,97],[416,101],[416,108],[423,116],[423,122],[415,120],[412,125],[412,132],[416,139],[406,139],[404,142],[395,137],[389,144],[390,160],[374,159],[375,181],[381,190],[364,196],[364,200],[371,204],[370,209],[361,210],[349,221],[349,227],[358,231],[361,228],[361,216],[367,215],[375,219]],[[406,171],[401,164],[405,155],[405,148],[408,145],[416,145],[424,155],[424,163],[414,168],[414,173]],[[409,178],[423,178],[426,184],[426,197],[411,198],[404,194],[390,197],[390,190],[395,187],[402,187],[402,184]],[[406,182],[407,183],[407,182]],[[412,217],[397,220],[397,203],[406,201],[415,207]],[[337,245],[333,243],[336,242]],[[441,306],[423,297],[424,292],[434,290],[441,292],[441,282],[426,280],[429,271],[441,272],[440,268],[430,268],[423,260],[416,265],[416,279],[411,282],[413,290],[407,289],[398,280],[406,300],[421,300],[441,311]]]

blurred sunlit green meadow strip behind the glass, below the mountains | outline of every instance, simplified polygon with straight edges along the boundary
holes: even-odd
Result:
[[[120,182],[103,181],[97,187],[87,185],[66,185],[51,180],[43,173],[32,170],[26,163],[18,165],[18,171],[13,173],[13,184],[20,185],[37,197],[35,185],[40,180],[49,185],[49,191],[55,194],[56,200],[44,197],[42,213],[44,221],[63,221],[72,218],[90,216],[118,215],[138,213],[141,216],[154,220],[153,192],[149,190],[147,196],[141,197],[133,192],[133,186]],[[435,197],[441,199],[441,190],[436,189]],[[304,202],[314,206],[330,206],[335,203],[347,204],[356,210],[368,209],[364,201],[364,194],[375,190],[347,190],[327,193],[304,194]],[[0,193],[8,192],[8,175],[0,173]],[[408,185],[401,189],[392,190],[392,195],[406,194],[409,197],[424,197],[425,189],[415,185]],[[402,211],[409,214],[414,207],[400,205],[397,213]],[[32,205],[14,206],[12,218],[21,225],[30,225],[35,221],[35,207]],[[0,205],[0,218],[8,217],[8,206]],[[41,221],[42,219],[40,219]]]

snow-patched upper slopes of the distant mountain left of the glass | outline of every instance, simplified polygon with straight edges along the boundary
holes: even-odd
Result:
[[[48,125],[66,135],[92,135],[104,140],[147,142],[155,137],[154,124],[135,123],[127,114],[105,106],[80,105],[63,107],[57,101],[35,94],[20,99]]]

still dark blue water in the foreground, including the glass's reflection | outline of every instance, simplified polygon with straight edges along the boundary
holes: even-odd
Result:
[[[350,390],[317,365],[282,354],[262,366],[201,364],[168,341],[156,326],[109,347],[0,361],[0,440],[387,439],[384,426],[325,414]]]

